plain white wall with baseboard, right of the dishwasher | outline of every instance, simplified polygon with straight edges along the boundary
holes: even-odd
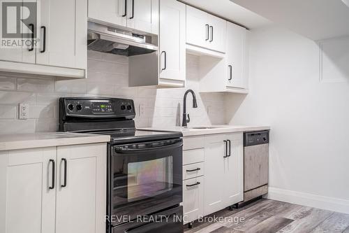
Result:
[[[278,27],[251,31],[250,56],[250,94],[226,117],[272,127],[269,197],[349,213],[349,73],[320,82],[318,45]]]

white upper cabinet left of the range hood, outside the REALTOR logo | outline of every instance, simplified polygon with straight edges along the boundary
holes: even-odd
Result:
[[[22,24],[33,46],[0,48],[0,71],[86,78],[87,0],[36,2],[33,22]]]

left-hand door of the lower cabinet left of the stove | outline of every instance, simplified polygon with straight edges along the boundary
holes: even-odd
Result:
[[[0,232],[54,233],[55,160],[56,148],[0,154]]]

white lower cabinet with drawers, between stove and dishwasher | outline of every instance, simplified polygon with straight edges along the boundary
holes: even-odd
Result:
[[[195,137],[203,148],[184,150],[184,223],[244,199],[243,133]],[[184,145],[193,138],[184,137]],[[189,185],[189,186],[188,186]]]

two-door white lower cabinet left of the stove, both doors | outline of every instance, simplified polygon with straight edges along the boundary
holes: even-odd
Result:
[[[106,148],[0,153],[0,232],[104,232]]]

